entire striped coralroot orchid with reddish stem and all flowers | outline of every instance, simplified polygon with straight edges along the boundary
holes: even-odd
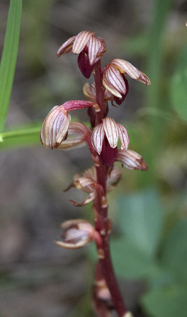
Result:
[[[108,219],[107,192],[117,186],[121,170],[114,166],[121,162],[131,170],[147,170],[143,158],[129,150],[127,129],[108,116],[108,102],[121,104],[126,98],[129,85],[125,76],[150,84],[149,78],[123,59],[113,59],[101,69],[101,57],[106,51],[105,41],[93,32],[82,31],[61,45],[57,57],[73,52],[78,54],[78,67],[84,77],[93,72],[95,82],[86,83],[83,93],[87,100],[70,100],[55,106],[43,121],[40,139],[45,147],[67,150],[88,146],[94,166],[82,175],[75,175],[66,189],[76,187],[87,193],[81,202],[70,201],[75,206],[84,206],[93,201],[94,225],[87,220],[68,220],[62,224],[62,240],[56,244],[63,248],[78,249],[96,244],[98,261],[93,285],[93,309],[98,317],[110,317],[111,310],[118,317],[133,317],[127,311],[120,293],[110,256],[109,236],[112,222]],[[69,111],[88,109],[90,126],[82,122],[70,122]],[[118,140],[121,145],[118,148]],[[125,259],[124,259],[125,260]]]

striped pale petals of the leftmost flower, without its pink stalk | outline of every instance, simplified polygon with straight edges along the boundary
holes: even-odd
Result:
[[[51,149],[57,148],[66,138],[70,120],[71,116],[63,105],[55,106],[43,121],[40,132],[42,144]]]

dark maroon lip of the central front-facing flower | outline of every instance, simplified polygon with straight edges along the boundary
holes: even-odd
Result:
[[[110,146],[107,138],[105,137],[105,139],[103,140],[102,151],[101,151],[101,154],[99,155],[101,164],[112,166],[117,158],[117,153],[118,153],[117,146],[113,149]]]

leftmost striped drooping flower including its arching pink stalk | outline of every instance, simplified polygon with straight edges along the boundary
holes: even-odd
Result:
[[[41,143],[52,150],[57,149],[67,136],[71,120],[68,112],[88,107],[93,107],[95,111],[100,110],[96,103],[86,100],[71,100],[60,106],[55,106],[43,121],[40,131]]]

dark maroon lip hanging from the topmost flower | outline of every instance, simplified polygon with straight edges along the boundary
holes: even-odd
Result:
[[[82,75],[86,77],[87,79],[90,78],[93,72],[94,64],[90,65],[87,48],[84,48],[84,50],[80,52],[80,54],[78,55],[77,61],[78,61],[78,67]]]

